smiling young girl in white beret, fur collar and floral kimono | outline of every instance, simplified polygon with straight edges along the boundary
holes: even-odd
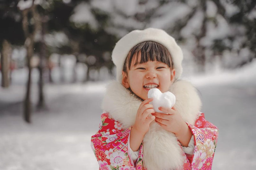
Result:
[[[103,99],[92,150],[101,170],[211,169],[218,129],[204,119],[195,88],[178,80],[182,51],[160,29],[134,30],[112,52],[117,81]],[[172,108],[149,104],[158,88],[176,96]]]

